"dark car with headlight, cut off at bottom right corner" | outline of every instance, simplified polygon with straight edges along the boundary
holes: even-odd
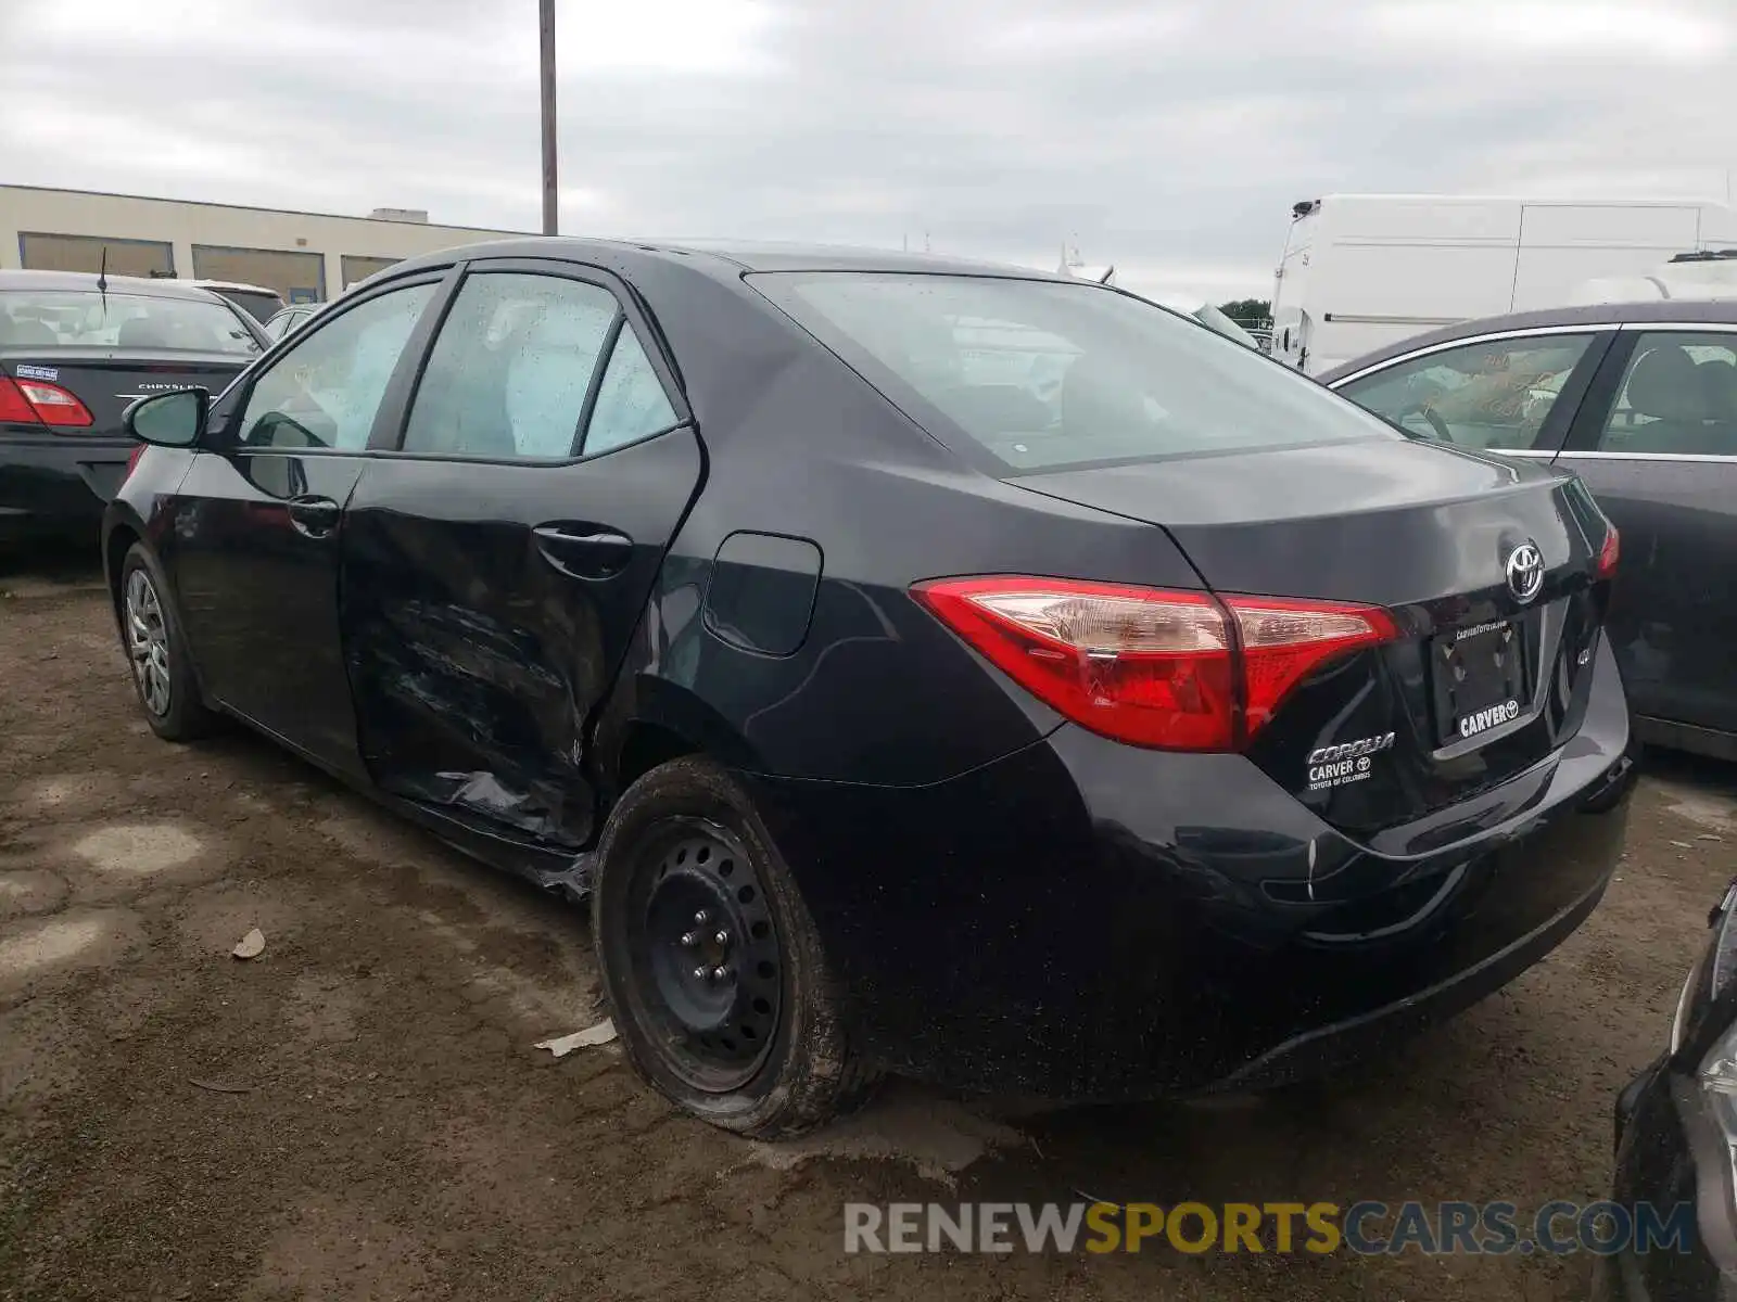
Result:
[[[1694,1208],[1674,1252],[1598,1260],[1600,1302],[1737,1299],[1737,882],[1678,998],[1669,1049],[1617,1101],[1612,1200]]]

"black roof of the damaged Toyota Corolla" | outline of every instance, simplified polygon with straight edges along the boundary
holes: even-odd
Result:
[[[997,262],[938,255],[902,253],[882,248],[856,248],[849,245],[771,243],[745,240],[584,240],[575,236],[528,236],[525,240],[495,240],[479,245],[462,245],[422,257],[406,259],[379,273],[380,279],[396,278],[406,271],[450,264],[455,259],[478,257],[540,257],[589,260],[604,259],[611,264],[631,264],[634,257],[676,257],[710,269],[714,274],[740,274],[743,271],[881,271],[929,273],[961,276],[1018,276],[1021,279],[1068,279],[1053,273],[1014,267]]]

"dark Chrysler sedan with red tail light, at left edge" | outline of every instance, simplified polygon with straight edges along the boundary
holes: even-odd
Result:
[[[0,543],[97,536],[137,444],[127,404],[222,389],[264,349],[222,299],[165,279],[0,271]]]

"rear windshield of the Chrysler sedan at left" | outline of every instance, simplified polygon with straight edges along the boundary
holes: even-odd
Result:
[[[221,302],[94,290],[0,293],[0,347],[172,349],[247,358],[259,352],[248,328]]]

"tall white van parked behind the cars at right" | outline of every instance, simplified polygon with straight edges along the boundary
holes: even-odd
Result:
[[[1291,217],[1273,356],[1310,375],[1452,321],[1560,307],[1588,281],[1737,247],[1737,214],[1701,200],[1329,194]]]

